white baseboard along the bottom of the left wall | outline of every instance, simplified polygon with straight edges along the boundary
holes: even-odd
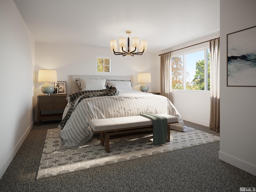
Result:
[[[12,162],[12,159],[14,158],[14,156],[16,155],[16,153],[18,152],[20,146],[22,145],[22,143],[24,142],[24,140],[26,139],[26,137],[28,136],[28,133],[30,132],[30,130],[32,129],[34,125],[34,121],[30,124],[30,126],[27,128],[26,132],[23,134],[23,136],[20,138],[19,142],[16,144],[16,146],[13,148],[13,150],[10,152],[9,156],[6,158],[6,160],[4,161],[4,163],[2,164],[2,166],[0,167],[0,179],[2,178],[2,176],[4,175],[4,172],[6,171],[6,169],[8,168],[8,166],[10,165],[10,163]]]

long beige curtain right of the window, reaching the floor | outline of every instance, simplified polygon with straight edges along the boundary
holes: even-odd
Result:
[[[220,132],[220,38],[210,41],[210,129]]]

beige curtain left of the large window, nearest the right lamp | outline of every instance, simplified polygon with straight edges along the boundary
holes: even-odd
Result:
[[[171,53],[161,55],[161,95],[166,96],[172,102],[172,64]]]

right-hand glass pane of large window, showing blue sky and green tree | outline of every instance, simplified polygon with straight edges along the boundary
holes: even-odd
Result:
[[[204,50],[186,54],[186,89],[204,90]]]

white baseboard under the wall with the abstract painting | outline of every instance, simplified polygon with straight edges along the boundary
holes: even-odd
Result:
[[[256,166],[219,151],[219,159],[256,176]]]

